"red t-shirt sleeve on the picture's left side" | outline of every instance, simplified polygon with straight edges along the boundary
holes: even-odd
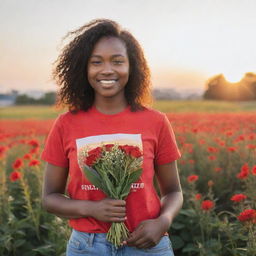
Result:
[[[41,155],[41,159],[60,167],[68,167],[69,161],[64,148],[61,116],[54,122]]]

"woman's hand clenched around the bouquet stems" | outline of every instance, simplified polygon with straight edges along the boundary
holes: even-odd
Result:
[[[105,198],[92,203],[91,216],[104,222],[124,222],[126,220],[126,202]]]

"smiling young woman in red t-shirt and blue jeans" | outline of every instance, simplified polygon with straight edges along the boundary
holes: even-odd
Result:
[[[94,20],[71,35],[54,72],[59,103],[69,111],[57,118],[42,153],[43,205],[69,218],[68,256],[173,255],[167,231],[183,202],[180,153],[165,114],[146,107],[150,72],[143,51],[111,20]],[[131,142],[134,136],[143,150],[142,175],[126,200],[107,198],[83,176],[77,141]],[[112,222],[125,222],[131,232],[119,248],[106,240]]]

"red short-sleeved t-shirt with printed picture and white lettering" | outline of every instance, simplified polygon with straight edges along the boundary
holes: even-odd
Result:
[[[120,113],[107,115],[94,106],[76,114],[67,112],[55,121],[42,153],[42,159],[69,168],[67,191],[76,200],[101,200],[106,195],[93,186],[79,167],[79,148],[88,143],[136,144],[143,151],[143,172],[126,198],[126,226],[132,232],[147,219],[157,218],[160,199],[153,185],[154,165],[177,160],[180,152],[165,114],[145,108],[132,112],[128,106]],[[134,142],[134,143],[133,143]],[[106,233],[110,223],[93,217],[70,219],[71,227],[89,233]]]

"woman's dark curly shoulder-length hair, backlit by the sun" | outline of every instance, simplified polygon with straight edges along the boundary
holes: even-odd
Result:
[[[87,65],[95,44],[102,37],[116,37],[126,46],[130,75],[125,86],[125,98],[132,111],[152,102],[150,70],[143,50],[133,35],[108,19],[93,20],[69,32],[73,39],[64,47],[55,62],[53,77],[60,86],[58,106],[70,111],[88,110],[94,102],[94,90],[88,82]]]

